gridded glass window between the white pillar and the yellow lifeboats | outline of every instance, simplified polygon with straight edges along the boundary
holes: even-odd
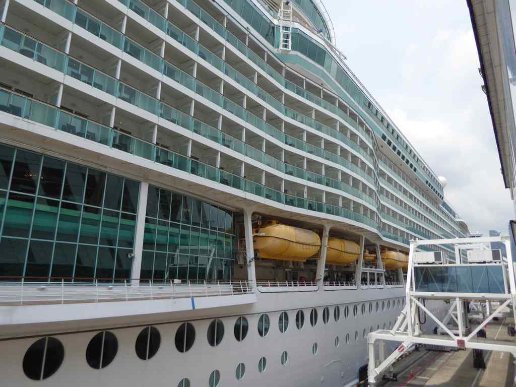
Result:
[[[217,205],[150,186],[140,277],[158,282],[229,281],[233,215]]]

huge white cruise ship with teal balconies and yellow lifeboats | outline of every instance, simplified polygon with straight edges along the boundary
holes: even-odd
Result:
[[[320,0],[0,18],[2,386],[353,386],[469,232]]]

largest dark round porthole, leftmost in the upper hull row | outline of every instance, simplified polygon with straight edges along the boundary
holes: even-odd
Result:
[[[23,357],[23,372],[32,380],[43,380],[56,373],[65,358],[65,348],[55,337],[35,341]]]

